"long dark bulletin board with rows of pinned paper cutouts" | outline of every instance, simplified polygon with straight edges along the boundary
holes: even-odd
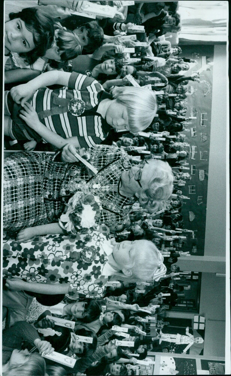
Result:
[[[184,72],[185,76],[190,76],[193,71],[200,72],[201,83],[189,81],[187,95],[187,117],[196,119],[188,120],[190,123],[186,130],[181,133],[186,134],[185,142],[190,144],[185,150],[189,151],[187,158],[188,171],[192,178],[186,182],[182,188],[183,195],[190,198],[184,200],[181,214],[183,215],[184,228],[193,230],[187,234],[187,245],[184,252],[189,251],[191,255],[204,255],[207,188],[208,188],[208,163],[210,153],[210,124],[212,107],[212,80],[213,80],[213,52],[211,45],[181,45],[182,54],[179,57],[196,59],[197,64],[190,70]],[[219,126],[219,124],[217,124]]]

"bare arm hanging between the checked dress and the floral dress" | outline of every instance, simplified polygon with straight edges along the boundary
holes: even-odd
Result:
[[[16,241],[20,243],[26,240],[30,240],[37,235],[47,234],[62,234],[64,230],[59,226],[59,223],[41,224],[40,226],[27,227],[17,233]]]

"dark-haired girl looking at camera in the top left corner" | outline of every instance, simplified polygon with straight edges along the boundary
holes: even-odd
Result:
[[[36,8],[10,13],[9,18],[5,23],[5,55],[9,56],[5,83],[30,80],[45,69],[42,56],[53,44],[53,21]]]

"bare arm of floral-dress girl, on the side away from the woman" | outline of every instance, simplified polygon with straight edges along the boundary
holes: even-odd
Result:
[[[39,282],[25,282],[20,278],[8,277],[6,279],[6,287],[13,291],[31,291],[32,293],[56,295],[68,294],[69,283],[56,284],[56,283],[39,283]]]

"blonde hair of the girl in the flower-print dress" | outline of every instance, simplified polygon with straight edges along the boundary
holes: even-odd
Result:
[[[131,265],[124,265],[124,268],[131,270],[132,275],[125,276],[123,273],[116,273],[114,276],[119,277],[119,280],[126,280],[130,283],[151,279],[158,281],[160,277],[166,274],[162,254],[152,241],[145,239],[137,241],[145,242],[146,244],[140,249],[140,252],[134,253],[134,259]]]

